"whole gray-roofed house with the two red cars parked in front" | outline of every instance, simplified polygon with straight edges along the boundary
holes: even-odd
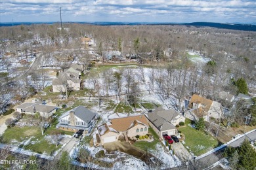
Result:
[[[176,110],[165,110],[158,107],[154,112],[148,113],[149,124],[161,137],[164,134],[175,135],[177,133],[176,125],[179,122],[185,122],[185,117]]]

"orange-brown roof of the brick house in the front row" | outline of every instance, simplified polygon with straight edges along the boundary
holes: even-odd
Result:
[[[111,124],[109,127],[116,129],[117,131],[127,131],[138,124],[148,126],[148,121],[144,115],[128,116],[125,118],[114,118],[110,120]]]

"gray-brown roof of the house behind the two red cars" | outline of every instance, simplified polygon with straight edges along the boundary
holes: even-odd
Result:
[[[175,129],[175,126],[171,124],[171,120],[177,116],[182,115],[173,109],[165,110],[162,107],[158,107],[154,112],[148,113],[148,119],[160,131]]]

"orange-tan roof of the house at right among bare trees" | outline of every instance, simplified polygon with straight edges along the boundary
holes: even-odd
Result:
[[[211,105],[213,104],[213,101],[210,99],[206,99],[205,97],[202,97],[202,95],[194,94],[194,95],[192,95],[192,97],[189,101],[188,107],[192,108],[192,103],[197,103],[197,104],[200,103],[202,105],[205,105],[203,110],[205,112],[208,112],[209,109],[211,108]]]

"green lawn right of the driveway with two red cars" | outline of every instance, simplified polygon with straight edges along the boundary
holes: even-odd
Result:
[[[191,150],[196,156],[200,156],[218,145],[217,139],[188,126],[188,124],[191,124],[191,121],[186,119],[185,126],[179,127],[179,130],[185,135],[184,146],[188,146],[187,149]]]

